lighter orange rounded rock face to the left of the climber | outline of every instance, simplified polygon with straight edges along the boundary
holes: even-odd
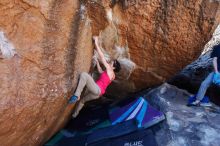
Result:
[[[0,15],[0,145],[42,145],[69,118],[67,97],[90,68],[89,21],[76,0],[1,0]]]

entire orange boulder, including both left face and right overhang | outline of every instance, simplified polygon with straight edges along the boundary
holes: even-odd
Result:
[[[1,0],[1,145],[42,145],[65,124],[68,97],[91,66],[92,35],[123,64],[115,87],[132,91],[163,82],[197,57],[218,10],[218,2],[199,0]]]

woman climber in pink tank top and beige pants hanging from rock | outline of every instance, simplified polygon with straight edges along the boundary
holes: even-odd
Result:
[[[75,106],[72,117],[75,118],[79,111],[83,108],[85,102],[94,100],[103,95],[108,85],[115,79],[115,73],[121,69],[120,63],[117,60],[107,62],[103,52],[99,46],[98,37],[93,37],[95,48],[98,52],[100,62],[105,66],[105,71],[102,70],[99,61],[96,60],[98,72],[101,74],[99,79],[95,82],[94,79],[86,72],[80,74],[79,83],[74,95],[70,98],[69,103],[74,103],[79,100]],[[80,95],[84,87],[87,87],[88,94],[80,99]]]

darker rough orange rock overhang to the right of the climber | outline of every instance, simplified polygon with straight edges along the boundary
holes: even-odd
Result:
[[[136,64],[129,79],[134,89],[158,85],[192,62],[220,22],[219,2],[115,2],[111,7],[106,1],[85,5],[92,31],[101,31],[102,46],[108,53],[117,58],[124,51]],[[121,51],[114,49],[115,44]]]

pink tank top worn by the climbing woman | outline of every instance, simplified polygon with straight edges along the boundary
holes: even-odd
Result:
[[[101,90],[101,94],[103,95],[106,91],[106,88],[108,87],[108,85],[111,83],[111,80],[107,74],[107,71],[104,71],[99,79],[96,81],[96,84],[99,86],[100,90]]]

